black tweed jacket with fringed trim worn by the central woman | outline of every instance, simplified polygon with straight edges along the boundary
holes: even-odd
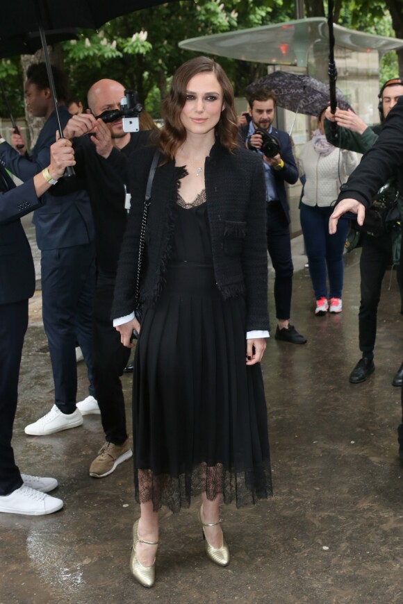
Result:
[[[155,147],[131,156],[131,210],[117,269],[113,318],[134,310],[140,224]],[[186,174],[174,161],[156,169],[147,222],[141,300],[155,303],[172,251],[176,200]],[[219,143],[204,165],[206,203],[217,287],[224,299],[245,295],[247,331],[268,330],[265,181],[261,158],[247,149],[229,153]]]

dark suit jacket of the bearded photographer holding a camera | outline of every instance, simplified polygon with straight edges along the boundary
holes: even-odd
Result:
[[[249,131],[249,124],[241,126],[239,129],[240,139],[243,145],[247,140],[247,133]],[[293,156],[293,149],[291,148],[291,140],[286,132],[277,130],[272,126],[272,134],[277,136],[281,144],[281,159],[284,162],[284,166],[280,170],[272,170],[274,174],[274,182],[276,184],[277,193],[279,194],[279,201],[281,202],[281,208],[283,208],[284,214],[286,215],[288,224],[290,224],[290,208],[288,206],[287,192],[284,185],[284,181],[289,185],[293,185],[298,180],[298,168],[295,164]],[[256,153],[256,151],[252,151]]]

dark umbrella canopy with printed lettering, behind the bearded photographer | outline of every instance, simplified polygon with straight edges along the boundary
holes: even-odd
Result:
[[[318,116],[330,101],[329,84],[311,76],[273,72],[249,84],[247,92],[258,88],[268,88],[277,97],[277,104],[295,113]],[[351,109],[342,92],[336,89],[337,105],[340,109]]]

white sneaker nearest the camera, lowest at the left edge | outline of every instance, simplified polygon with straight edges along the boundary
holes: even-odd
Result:
[[[0,512],[44,516],[61,510],[63,501],[22,485],[10,495],[0,496]]]

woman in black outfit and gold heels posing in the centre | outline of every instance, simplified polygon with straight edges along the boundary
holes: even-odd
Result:
[[[141,516],[131,571],[145,587],[154,585],[161,505],[177,512],[201,494],[207,555],[226,566],[220,499],[239,507],[272,493],[260,367],[269,329],[261,161],[238,149],[231,83],[210,58],[178,69],[162,113],[141,330],[134,284],[152,147],[131,158],[131,211],[113,306],[125,346],[133,328],[140,330],[133,442]]]

